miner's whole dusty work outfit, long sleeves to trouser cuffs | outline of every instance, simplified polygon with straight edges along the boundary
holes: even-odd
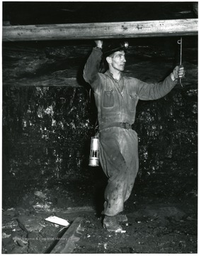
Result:
[[[123,211],[138,171],[137,133],[120,127],[133,124],[138,100],[156,100],[164,97],[176,85],[169,75],[163,82],[146,83],[121,73],[117,82],[110,71],[99,73],[102,51],[93,48],[84,67],[84,80],[93,89],[98,109],[100,162],[108,177],[104,193],[103,214],[114,216]],[[117,125],[118,124],[118,125]]]

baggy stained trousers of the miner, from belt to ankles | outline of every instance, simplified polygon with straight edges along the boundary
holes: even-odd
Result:
[[[123,211],[124,202],[132,191],[138,170],[137,134],[132,132],[114,127],[101,133],[100,160],[108,176],[105,215],[113,216]]]

